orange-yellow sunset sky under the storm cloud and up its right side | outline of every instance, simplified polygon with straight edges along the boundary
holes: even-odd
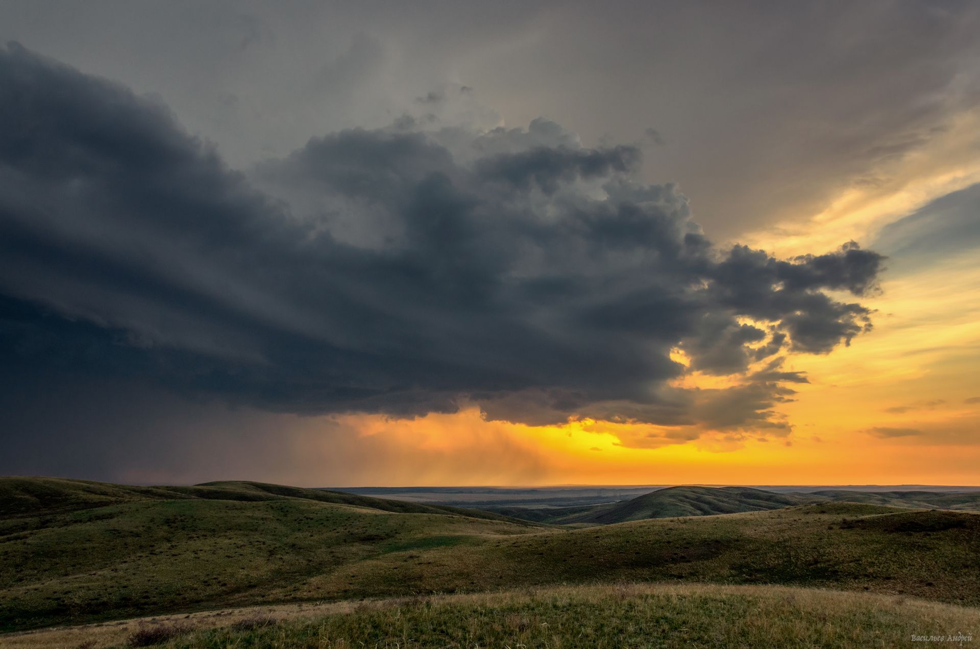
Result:
[[[365,484],[980,485],[980,269],[951,259],[886,281],[868,304],[878,310],[875,328],[851,347],[788,357],[785,369],[806,371],[809,383],[794,385],[796,400],[778,408],[793,424],[786,437],[591,420],[532,426],[486,421],[476,406],[338,421],[412,455],[411,473],[386,463]],[[671,357],[686,364],[679,349]],[[675,381],[735,383],[700,373]],[[916,432],[888,437],[875,428]]]

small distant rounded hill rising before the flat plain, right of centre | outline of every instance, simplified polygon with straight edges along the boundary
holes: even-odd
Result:
[[[554,522],[612,524],[679,516],[761,512],[800,505],[816,499],[802,494],[780,494],[751,487],[677,486],[658,489],[632,500],[595,508],[584,514],[573,514]]]

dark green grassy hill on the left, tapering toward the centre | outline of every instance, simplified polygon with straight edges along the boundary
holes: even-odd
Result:
[[[312,491],[313,499],[275,495],[270,487],[279,487],[272,485],[64,482],[0,482],[17,494],[6,511],[22,512],[0,520],[0,630],[254,603],[268,592],[288,599],[313,574],[385,552],[529,528],[364,496],[351,498],[371,507],[324,502],[329,492]],[[182,497],[165,499],[171,489]],[[46,507],[27,513],[26,498]],[[408,513],[381,509],[389,506]]]

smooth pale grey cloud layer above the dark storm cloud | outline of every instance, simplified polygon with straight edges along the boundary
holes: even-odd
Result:
[[[0,3],[0,40],[160,92],[236,166],[406,107],[483,124],[474,99],[590,145],[653,127],[646,177],[718,240],[900,189],[892,162],[975,115],[978,30],[980,5],[934,0]]]

